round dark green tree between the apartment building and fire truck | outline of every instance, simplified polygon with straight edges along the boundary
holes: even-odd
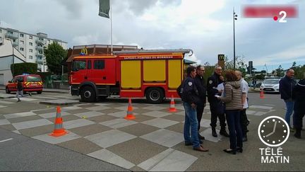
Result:
[[[67,51],[57,42],[53,42],[44,48],[44,55],[47,61],[47,67],[53,74],[61,74],[61,62],[67,57]],[[64,67],[64,72],[67,71]]]

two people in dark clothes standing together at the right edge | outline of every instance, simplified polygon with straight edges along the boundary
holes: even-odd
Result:
[[[294,137],[301,138],[303,127],[303,117],[305,115],[305,73],[303,79],[296,83],[294,80],[294,70],[287,69],[285,77],[280,80],[280,95],[286,104],[285,121],[294,132]],[[290,117],[293,115],[293,126],[290,124]]]

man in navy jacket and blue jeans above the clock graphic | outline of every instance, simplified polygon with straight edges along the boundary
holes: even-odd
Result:
[[[294,109],[294,101],[292,100],[292,89],[296,84],[296,81],[294,81],[293,77],[294,70],[287,69],[286,76],[280,80],[280,95],[286,104],[285,120],[291,129],[292,127],[290,125],[290,116],[292,115]]]

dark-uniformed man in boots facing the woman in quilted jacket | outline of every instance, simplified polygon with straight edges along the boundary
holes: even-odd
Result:
[[[207,91],[208,91],[208,102],[210,103],[210,111],[211,111],[211,123],[212,127],[212,135],[213,137],[217,137],[216,133],[216,122],[217,117],[220,120],[220,134],[229,137],[229,134],[226,131],[226,123],[225,123],[225,110],[222,106],[222,102],[218,100],[215,95],[221,95],[222,91],[218,91],[217,86],[221,84],[223,81],[220,79],[222,73],[222,67],[216,66],[214,74],[208,78],[207,82]]]

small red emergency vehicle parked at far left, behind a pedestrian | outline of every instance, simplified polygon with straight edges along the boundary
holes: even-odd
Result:
[[[17,81],[22,82],[23,92],[34,92],[42,93],[42,79],[40,75],[37,74],[22,74],[14,76],[11,81],[6,84],[6,93],[11,93],[11,91],[17,91]]]

